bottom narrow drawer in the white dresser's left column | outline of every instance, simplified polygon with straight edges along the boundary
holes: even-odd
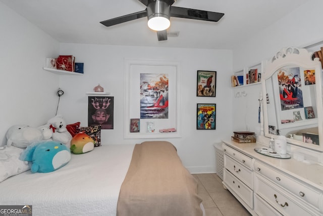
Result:
[[[227,169],[224,169],[224,182],[236,192],[250,208],[253,208],[253,191],[237,179],[237,177],[232,175]]]

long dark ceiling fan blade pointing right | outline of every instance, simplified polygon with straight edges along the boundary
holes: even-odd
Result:
[[[189,8],[171,7],[171,17],[218,22],[224,13],[201,11]]]

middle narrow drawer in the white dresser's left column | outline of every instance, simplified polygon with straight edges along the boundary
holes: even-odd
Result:
[[[253,188],[252,171],[228,155],[224,157],[224,166],[249,188]]]

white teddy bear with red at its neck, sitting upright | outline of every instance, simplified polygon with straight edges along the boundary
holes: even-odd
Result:
[[[66,122],[62,116],[55,116],[48,120],[47,124],[52,130],[52,140],[58,141],[68,148],[71,147],[72,135],[67,131]]]

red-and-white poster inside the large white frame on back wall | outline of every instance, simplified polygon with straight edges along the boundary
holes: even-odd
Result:
[[[140,73],[140,118],[168,118],[168,74]]]

